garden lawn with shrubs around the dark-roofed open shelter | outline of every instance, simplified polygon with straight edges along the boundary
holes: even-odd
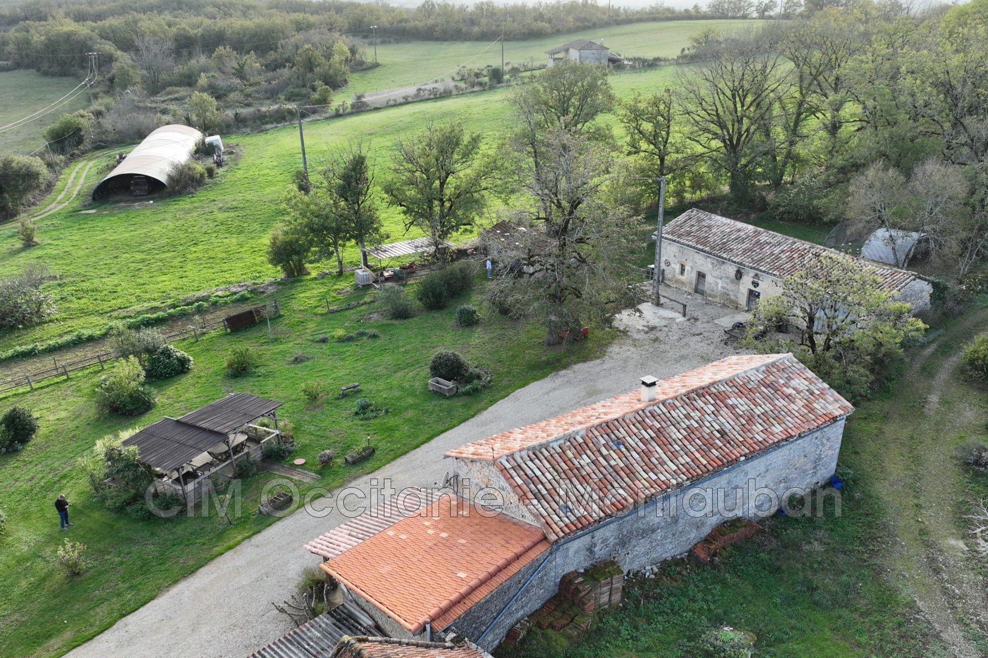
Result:
[[[0,505],[9,516],[7,534],[0,537],[4,658],[63,653],[272,522],[251,513],[259,502],[260,476],[244,486],[247,514],[232,527],[215,518],[136,521],[109,513],[94,499],[78,467],[100,437],[163,415],[174,417],[230,392],[251,393],[285,402],[279,416],[292,422],[297,443],[291,459],[303,457],[314,465],[320,450],[337,451],[341,459],[321,471],[317,483],[335,487],[421,445],[519,387],[592,357],[612,335],[600,331],[575,348],[546,349],[539,329],[501,317],[486,319],[476,328],[456,329],[454,308],[465,297],[446,311],[423,312],[401,322],[366,320],[379,311],[373,305],[327,314],[324,282],[312,277],[279,285],[276,295],[284,316],[273,323],[274,340],[269,341],[266,327],[257,327],[180,343],[195,359],[194,370],[156,383],[158,402],[141,417],[97,414],[92,390],[98,370],[67,382],[52,380],[33,393],[3,401],[4,408],[16,402],[41,416],[41,432],[23,452],[0,455]],[[473,292],[480,294],[479,289]],[[380,337],[316,341],[331,336],[334,329],[374,329]],[[261,365],[253,375],[229,379],[223,374],[224,360],[236,344],[249,345]],[[430,393],[428,362],[441,348],[456,349],[471,362],[487,365],[494,373],[492,387],[473,397],[446,399]],[[298,355],[309,358],[292,363],[301,360]],[[309,402],[301,391],[307,382],[323,383],[327,395]],[[333,395],[353,382],[361,383],[362,396],[390,411],[370,421],[356,419],[356,397],[341,401]],[[342,456],[368,435],[376,454],[359,467],[346,466]],[[74,503],[70,533],[58,529],[53,509],[58,493]],[[94,560],[78,578],[63,575],[53,561],[66,535],[85,544]]]

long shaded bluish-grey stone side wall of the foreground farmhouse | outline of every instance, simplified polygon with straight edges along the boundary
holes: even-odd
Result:
[[[735,501],[734,489],[747,488],[741,496],[738,515],[757,518],[774,514],[778,502],[758,496],[753,507],[749,505],[749,492],[757,494],[758,488],[765,487],[784,498],[784,492],[792,487],[810,488],[827,481],[837,468],[843,432],[842,419],[711,475],[685,490],[675,491],[627,516],[608,519],[591,532],[557,542],[460,616],[453,622],[453,627],[468,639],[477,641],[531,578],[524,592],[494,623],[483,640],[477,642],[491,650],[515,623],[534,613],[556,593],[559,579],[568,571],[607,559],[614,559],[625,571],[631,571],[684,554],[711,530],[733,518],[713,511],[704,514],[706,501],[711,496],[714,505],[718,497],[726,500],[725,507],[730,511]],[[684,497],[694,500],[694,512],[685,511]],[[698,501],[702,502],[698,504]]]

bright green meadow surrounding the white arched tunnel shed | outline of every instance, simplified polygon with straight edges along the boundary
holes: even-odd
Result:
[[[617,74],[612,84],[618,96],[631,89],[652,89],[667,84],[675,68]],[[511,120],[506,103],[509,93],[495,90],[307,122],[309,163],[318,167],[331,149],[348,140],[364,139],[376,154],[380,182],[387,176],[397,139],[413,134],[428,121],[454,118],[483,133],[484,157],[497,158],[497,146]],[[265,250],[272,227],[283,215],[281,198],[291,173],[301,164],[298,130],[286,126],[225,135],[224,140],[237,144],[234,148],[243,159],[195,195],[158,198],[153,203],[89,204],[86,207],[97,212],[80,214],[100,176],[94,167],[93,180],[87,181],[79,197],[39,222],[39,246],[25,250],[16,224],[0,224],[0,275],[41,261],[58,276],[45,287],[55,298],[58,314],[41,325],[3,332],[0,351],[76,329],[104,328],[115,316],[139,314],[217,286],[279,276],[280,271],[268,264]],[[90,157],[100,160],[106,170],[116,153],[111,150]],[[391,240],[404,239],[398,213],[383,202],[380,206]],[[492,224],[495,210],[492,207],[479,223]],[[354,247],[344,256],[347,264],[359,262]]]

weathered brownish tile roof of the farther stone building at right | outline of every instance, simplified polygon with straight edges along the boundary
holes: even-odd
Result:
[[[812,269],[821,254],[839,253],[697,208],[691,208],[669,222],[662,231],[662,238],[777,278]],[[892,290],[900,290],[917,278],[915,273],[904,269],[852,257],[862,266],[874,268],[885,287]]]

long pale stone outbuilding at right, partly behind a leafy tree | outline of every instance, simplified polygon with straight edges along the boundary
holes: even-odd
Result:
[[[782,277],[806,269],[828,252],[838,253],[692,208],[663,229],[662,276],[675,288],[750,311],[761,297],[782,291]],[[904,269],[856,260],[873,267],[881,285],[909,302],[914,313],[930,308],[929,281]]]

